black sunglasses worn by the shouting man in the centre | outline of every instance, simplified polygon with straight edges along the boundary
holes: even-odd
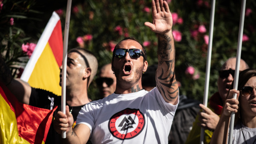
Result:
[[[123,58],[126,52],[129,53],[132,59],[138,59],[140,55],[145,59],[145,55],[139,49],[115,49],[113,54],[116,58]]]

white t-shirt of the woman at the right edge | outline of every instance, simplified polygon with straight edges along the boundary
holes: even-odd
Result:
[[[242,125],[242,128],[241,128],[241,125]],[[249,144],[249,143],[253,143],[255,139],[256,139],[256,128],[246,127],[243,124],[240,124],[240,121],[238,121],[234,127],[232,143],[248,143]],[[256,141],[254,143],[256,143]]]

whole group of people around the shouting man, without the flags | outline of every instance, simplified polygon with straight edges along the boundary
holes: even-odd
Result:
[[[219,70],[218,91],[208,107],[179,93],[175,77],[172,15],[167,2],[152,1],[153,22],[145,22],[158,37],[158,64],[148,66],[145,47],[133,37],[122,39],[111,63],[95,79],[99,100],[87,90],[97,75],[98,61],[82,48],[68,52],[66,114],[61,97],[13,78],[0,55],[0,81],[27,105],[54,112],[45,143],[226,143],[231,112],[236,113],[233,143],[256,140],[256,70],[241,59],[238,89],[234,90],[236,58]],[[62,66],[60,67],[60,85]],[[236,93],[237,99],[232,99]],[[200,110],[201,109],[201,110]],[[254,110],[255,109],[255,110]],[[61,138],[65,131],[67,138]]]

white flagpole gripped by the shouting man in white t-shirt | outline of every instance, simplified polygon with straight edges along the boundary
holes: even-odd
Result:
[[[69,30],[69,20],[71,11],[71,2],[68,0],[67,12],[66,12],[66,22],[63,40],[63,60],[62,60],[62,81],[61,81],[61,111],[66,114],[66,75],[67,75],[67,52],[68,52],[68,30]],[[66,131],[62,131],[62,138],[66,138]]]

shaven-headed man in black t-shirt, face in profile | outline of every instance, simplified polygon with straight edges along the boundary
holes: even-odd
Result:
[[[97,74],[97,69],[98,61],[92,52],[80,47],[71,49],[68,52],[66,103],[70,114],[74,117],[74,125],[79,110],[91,101],[87,95],[87,87],[89,87],[93,77]],[[60,67],[60,85],[62,82],[61,71],[62,66]],[[60,96],[46,90],[31,87],[21,79],[13,79],[2,55],[0,55],[0,81],[6,84],[7,88],[22,103],[45,109],[52,109],[58,106],[54,111],[54,115],[61,110]],[[55,132],[53,123],[51,123],[45,143],[63,143],[61,140],[61,135]]]

